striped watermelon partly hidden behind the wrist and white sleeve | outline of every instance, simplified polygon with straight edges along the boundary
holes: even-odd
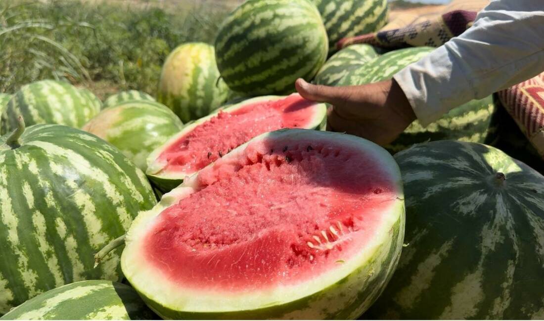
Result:
[[[415,47],[388,52],[349,72],[338,84],[362,85],[391,79],[395,73],[434,49]],[[497,106],[492,96],[471,100],[450,110],[425,128],[418,121],[413,122],[397,140],[385,147],[390,152],[396,153],[412,144],[426,141],[459,140],[492,143],[497,137],[497,127],[493,121],[496,110]]]

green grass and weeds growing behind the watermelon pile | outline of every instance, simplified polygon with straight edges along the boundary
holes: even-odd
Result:
[[[217,2],[0,1],[0,92],[66,79],[104,98],[138,89],[154,95],[166,55],[189,41],[213,43],[232,9]]]

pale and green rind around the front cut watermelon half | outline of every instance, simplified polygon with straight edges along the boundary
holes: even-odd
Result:
[[[337,136],[335,138],[338,143],[341,143],[343,139],[347,142],[351,141],[351,143],[357,140],[361,143],[362,150],[369,148],[373,150],[373,153],[384,157],[383,165],[392,167],[393,177],[395,175],[400,176],[398,168],[395,169],[397,165],[387,161],[387,158],[390,156],[385,153],[385,150],[354,136],[325,131],[282,129],[266,133],[234,149],[231,153],[225,155],[223,160],[235,158],[238,153],[243,153],[245,147],[252,141],[281,139],[281,137],[304,137],[304,139],[307,139],[308,135],[314,135],[316,139],[319,139],[320,135],[323,135],[323,137]],[[214,166],[214,164],[209,166]],[[191,181],[195,181],[197,175],[198,173],[191,177]],[[141,226],[147,226],[150,219],[159,215],[166,207],[177,204],[179,200],[188,197],[194,192],[193,188],[190,187],[193,184],[191,181],[165,194],[161,203],[153,210],[143,212],[135,219],[131,230],[127,234],[127,248],[134,242],[134,233],[138,233],[137,230]],[[397,184],[395,187],[397,187],[399,194],[397,200],[395,200],[395,205],[391,209],[391,213],[395,213],[394,222],[391,222],[392,224],[388,229],[387,236],[384,237],[382,242],[372,248],[372,253],[368,253],[365,256],[368,260],[364,261],[360,267],[334,284],[325,286],[325,288],[311,295],[284,304],[269,305],[261,309],[245,311],[178,311],[154,300],[149,293],[149,289],[145,287],[145,284],[140,284],[141,280],[132,278],[131,267],[137,263],[128,261],[125,252],[123,252],[121,266],[126,278],[131,281],[131,284],[140,293],[140,296],[146,301],[147,305],[160,317],[165,319],[355,319],[366,311],[376,298],[379,297],[385,285],[390,280],[399,260],[405,225],[404,196],[402,194],[403,188],[400,177]]]

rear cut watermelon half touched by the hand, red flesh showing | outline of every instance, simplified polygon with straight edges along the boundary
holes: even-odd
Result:
[[[325,104],[298,94],[245,100],[184,127],[151,153],[146,174],[168,192],[253,137],[282,128],[318,129],[325,119]]]

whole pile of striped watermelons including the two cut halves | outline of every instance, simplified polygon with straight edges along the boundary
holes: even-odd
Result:
[[[0,95],[2,319],[544,318],[544,177],[486,145],[492,97],[387,151],[293,93],[431,51],[335,53],[386,20],[386,0],[249,0],[170,54],[157,99]]]

